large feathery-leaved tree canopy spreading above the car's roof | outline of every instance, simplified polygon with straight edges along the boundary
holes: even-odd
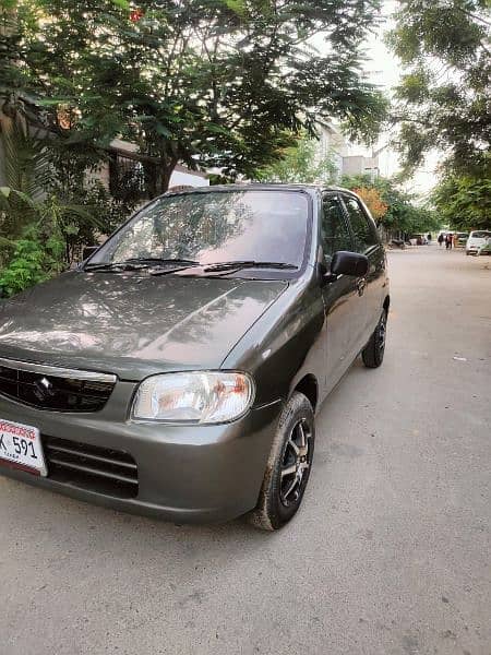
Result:
[[[316,117],[376,132],[385,103],[360,67],[376,12],[372,0],[20,0],[3,79],[40,99],[68,147],[122,135],[158,157],[154,193],[177,163],[251,177]]]

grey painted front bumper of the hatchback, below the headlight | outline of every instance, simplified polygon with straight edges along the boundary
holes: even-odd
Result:
[[[106,407],[93,414],[40,410],[0,397],[0,418],[37,427],[41,436],[129,453],[137,465],[134,498],[57,480],[49,466],[43,478],[3,465],[0,474],[179,523],[228,521],[255,507],[283,407],[279,401],[231,424],[168,426],[129,421],[125,408],[133,391],[134,384],[118,382]]]

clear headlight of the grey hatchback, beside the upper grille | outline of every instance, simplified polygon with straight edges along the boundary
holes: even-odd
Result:
[[[200,425],[226,422],[244,414],[253,400],[254,383],[247,373],[165,373],[140,384],[132,418]]]

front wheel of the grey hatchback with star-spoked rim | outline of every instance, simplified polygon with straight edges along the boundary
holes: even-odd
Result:
[[[312,405],[294,392],[279,417],[258,505],[249,514],[262,529],[279,529],[297,513],[309,481],[315,441]]]

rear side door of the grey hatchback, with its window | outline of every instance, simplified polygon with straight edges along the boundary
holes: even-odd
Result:
[[[364,329],[359,344],[361,349],[374,331],[382,312],[386,284],[385,252],[375,224],[358,198],[342,193],[342,201],[351,226],[354,251],[367,255],[369,260],[368,274],[360,283],[366,311]]]

